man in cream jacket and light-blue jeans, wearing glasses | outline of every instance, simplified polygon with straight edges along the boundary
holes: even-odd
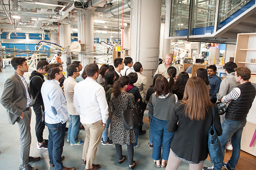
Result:
[[[79,70],[77,65],[71,64],[67,67],[68,78],[64,81],[64,92],[67,99],[68,113],[71,118],[68,130],[68,140],[70,146],[82,145],[84,141],[78,140],[78,134],[80,131],[80,117],[76,109],[73,106],[74,87],[77,84],[76,78],[79,76]]]

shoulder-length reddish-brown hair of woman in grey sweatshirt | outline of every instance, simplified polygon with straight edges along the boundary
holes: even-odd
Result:
[[[164,76],[161,75],[156,78],[154,91],[156,92],[156,97],[170,93],[169,83]]]

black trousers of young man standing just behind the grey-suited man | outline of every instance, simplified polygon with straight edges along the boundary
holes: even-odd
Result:
[[[43,142],[44,138],[42,137],[44,129],[45,129],[45,119],[44,119],[44,105],[41,105],[41,112],[35,113],[36,114],[36,136],[37,142]]]

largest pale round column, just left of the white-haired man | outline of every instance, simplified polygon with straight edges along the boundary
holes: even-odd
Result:
[[[161,8],[161,0],[132,0],[130,56],[133,63],[142,64],[142,75],[149,85],[153,82],[152,69],[158,67]]]

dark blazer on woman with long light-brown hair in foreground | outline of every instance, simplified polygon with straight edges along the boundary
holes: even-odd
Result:
[[[191,120],[185,116],[185,105],[178,101],[171,112],[167,125],[169,132],[174,132],[171,143],[172,151],[187,161],[199,163],[208,156],[208,131],[212,124],[212,110],[206,112],[204,120]],[[217,107],[214,107],[214,124],[218,136],[222,135],[222,127]],[[179,121],[179,125],[177,122]]]

